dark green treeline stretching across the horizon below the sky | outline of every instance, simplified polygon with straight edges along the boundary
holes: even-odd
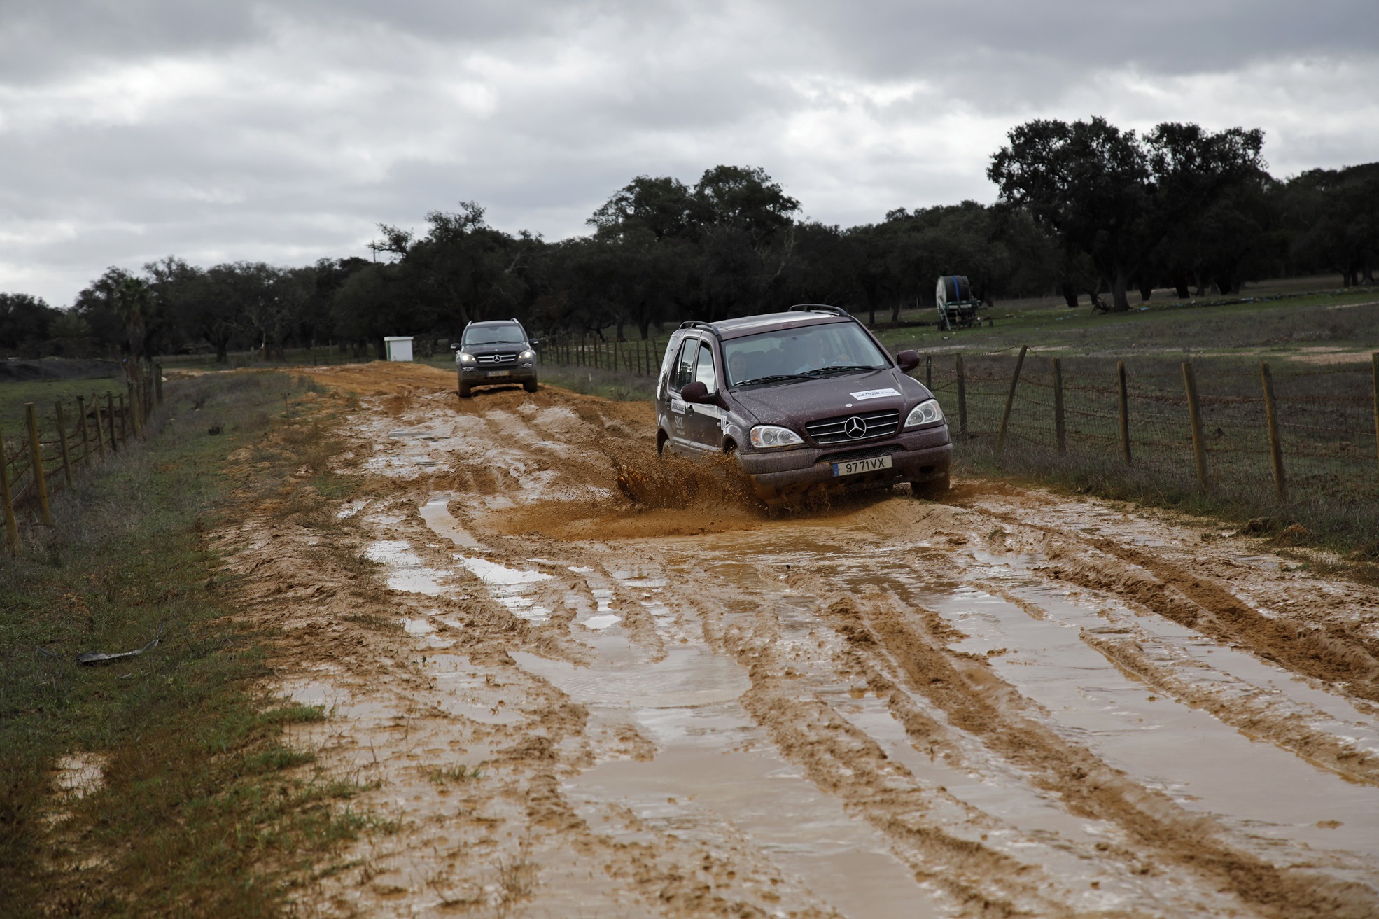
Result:
[[[1379,163],[1280,181],[1262,146],[1258,130],[1029,121],[992,156],[996,204],[898,208],[845,229],[803,218],[765,171],[739,166],[694,185],[640,175],[593,213],[589,236],[556,243],[495,229],[466,201],[426,214],[422,233],[381,225],[372,258],[199,268],[168,257],[139,273],[108,269],[68,309],[0,294],[0,350],[225,360],[415,335],[425,352],[476,319],[645,338],[663,323],[797,302],[894,322],[932,305],[939,275],[967,275],[989,302],[1060,294],[1109,310],[1156,287],[1230,294],[1321,272],[1372,283]]]

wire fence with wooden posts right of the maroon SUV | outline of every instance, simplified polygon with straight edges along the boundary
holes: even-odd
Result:
[[[1379,501],[1379,353],[1369,366],[1271,367],[1022,348],[929,355],[916,375],[958,443],[1001,465],[1094,466],[1256,504]]]

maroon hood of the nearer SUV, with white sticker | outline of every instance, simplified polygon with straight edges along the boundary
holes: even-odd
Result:
[[[894,395],[885,391],[894,391]],[[903,411],[929,397],[929,391],[899,370],[885,368],[825,379],[798,379],[774,386],[732,391],[739,406],[758,424],[803,429],[818,418],[860,411]]]

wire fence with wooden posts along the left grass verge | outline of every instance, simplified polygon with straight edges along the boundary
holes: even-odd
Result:
[[[0,429],[0,512],[11,553],[19,551],[21,522],[52,526],[52,495],[143,436],[145,419],[163,402],[163,368],[135,363],[127,371],[123,392],[58,400],[51,415],[30,402],[22,431]]]

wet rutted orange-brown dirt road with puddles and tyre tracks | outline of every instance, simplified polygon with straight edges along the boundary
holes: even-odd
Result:
[[[650,407],[310,373],[363,497],[219,534],[370,785],[309,912],[1379,915],[1379,592],[982,482],[768,519]]]

